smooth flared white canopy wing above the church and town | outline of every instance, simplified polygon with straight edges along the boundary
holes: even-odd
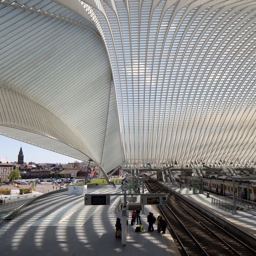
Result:
[[[105,172],[118,166],[116,96],[96,28],[49,0],[0,3],[0,134]]]

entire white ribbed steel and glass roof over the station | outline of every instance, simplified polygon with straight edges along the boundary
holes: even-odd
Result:
[[[256,1],[13,2],[0,1],[3,135],[33,132],[105,172],[255,164]],[[43,113],[33,127],[14,96],[24,118]]]

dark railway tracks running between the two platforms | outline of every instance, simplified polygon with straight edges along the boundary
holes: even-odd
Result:
[[[256,255],[255,248],[234,237],[167,188],[153,180],[146,185],[150,193],[168,195],[167,206],[159,206],[159,209],[169,223],[168,230],[181,255]]]

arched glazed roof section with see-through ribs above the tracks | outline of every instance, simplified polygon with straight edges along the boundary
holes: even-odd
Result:
[[[110,57],[128,167],[254,165],[255,4],[83,0]]]

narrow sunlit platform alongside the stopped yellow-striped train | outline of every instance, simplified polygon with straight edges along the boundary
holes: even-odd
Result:
[[[189,200],[190,202],[199,205],[203,211],[209,212],[213,216],[218,217],[223,221],[223,223],[228,223],[233,227],[237,228],[238,230],[246,233],[252,239],[256,239],[256,216],[253,215],[253,213],[237,210],[237,215],[233,215],[232,212],[225,211],[224,209],[212,204],[211,197],[217,197],[217,195],[210,195],[210,197],[207,198],[206,193],[193,194],[193,191],[190,191],[189,188],[186,188],[184,186],[180,188],[173,186],[172,183],[160,183],[180,194],[186,200]]]

